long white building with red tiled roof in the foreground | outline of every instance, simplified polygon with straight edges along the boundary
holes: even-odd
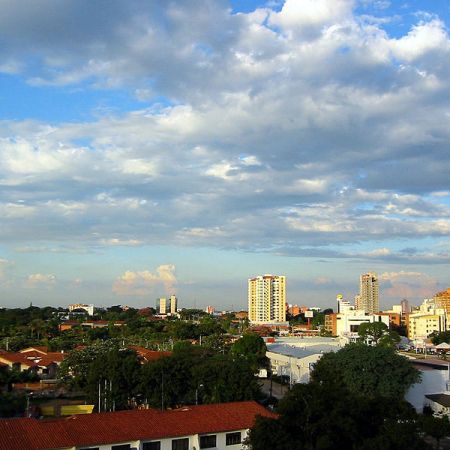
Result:
[[[238,450],[257,416],[276,417],[248,401],[51,421],[0,419],[0,450]]]

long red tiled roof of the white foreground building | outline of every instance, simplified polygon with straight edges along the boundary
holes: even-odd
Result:
[[[86,414],[64,419],[0,419],[0,450],[43,450],[162,439],[251,428],[277,416],[254,401]]]

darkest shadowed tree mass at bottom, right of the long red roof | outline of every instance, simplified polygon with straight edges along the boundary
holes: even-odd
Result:
[[[259,418],[252,450],[419,450],[428,448],[404,401],[366,398],[343,387],[297,384],[280,402],[279,419]]]

